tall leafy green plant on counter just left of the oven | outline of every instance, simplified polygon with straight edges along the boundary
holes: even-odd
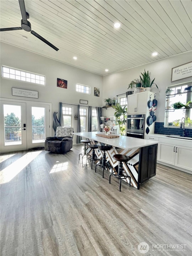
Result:
[[[116,112],[114,113],[115,120],[119,125],[119,130],[121,135],[124,135],[124,131],[126,128],[126,122],[127,122],[127,107],[121,107],[119,103],[117,103],[116,106],[112,106]]]

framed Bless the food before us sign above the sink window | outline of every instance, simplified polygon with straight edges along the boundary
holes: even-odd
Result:
[[[172,68],[171,82],[192,76],[192,62]]]

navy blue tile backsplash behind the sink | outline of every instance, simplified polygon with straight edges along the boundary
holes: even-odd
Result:
[[[156,134],[165,134],[165,135],[174,134],[174,135],[182,136],[183,129],[164,127],[164,123],[155,122],[155,131],[154,131],[154,133],[156,133]],[[185,137],[192,137],[192,128],[191,129],[185,129],[184,136]]]

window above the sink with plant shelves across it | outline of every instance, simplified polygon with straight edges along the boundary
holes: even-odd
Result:
[[[187,107],[191,101],[191,91],[186,91],[185,88],[191,86],[192,83],[183,83],[175,86],[170,86],[170,92],[166,94],[165,107],[165,125],[169,127],[179,128],[182,118],[185,118],[185,128],[192,128],[192,108]],[[174,109],[173,104],[181,102],[185,106],[181,109]],[[187,105],[187,106],[186,106]]]

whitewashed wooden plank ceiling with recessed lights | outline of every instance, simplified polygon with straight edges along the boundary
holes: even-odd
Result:
[[[0,32],[2,42],[96,74],[110,74],[192,49],[190,0],[27,0],[25,5],[32,30],[59,51],[24,30]],[[0,14],[1,28],[21,26],[17,0],[0,1]],[[115,22],[121,23],[119,29],[113,27]],[[158,56],[153,57],[153,52]]]

